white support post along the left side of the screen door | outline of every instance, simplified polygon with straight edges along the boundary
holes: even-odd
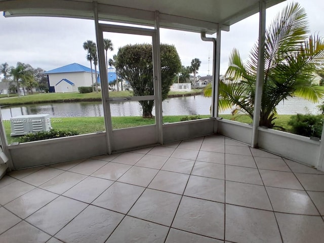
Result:
[[[107,153],[111,154],[110,139],[112,138],[112,126],[110,123],[110,107],[107,104],[107,101],[109,99],[108,77],[107,77],[107,69],[106,69],[106,62],[105,62],[103,34],[99,27],[97,2],[93,2],[93,9],[95,14],[97,49],[98,49],[98,59],[99,59],[100,80],[101,80],[101,95],[102,95],[102,105],[103,105],[103,113],[104,113],[105,128],[106,128]]]

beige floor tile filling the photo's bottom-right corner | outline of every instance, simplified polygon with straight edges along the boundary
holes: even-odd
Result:
[[[284,242],[322,243],[324,222],[320,216],[275,213]]]

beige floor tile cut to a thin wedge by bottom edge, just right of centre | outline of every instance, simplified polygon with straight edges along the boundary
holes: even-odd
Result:
[[[212,239],[197,234],[192,234],[178,229],[171,229],[166,243],[223,243],[222,240]]]

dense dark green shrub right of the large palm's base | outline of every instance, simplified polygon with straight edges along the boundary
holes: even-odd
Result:
[[[320,138],[323,127],[323,115],[292,115],[288,125],[292,127],[292,133],[306,137]]]

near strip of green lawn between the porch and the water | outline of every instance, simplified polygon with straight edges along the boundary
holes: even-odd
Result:
[[[164,116],[164,123],[177,123],[185,115],[170,115]],[[224,119],[232,119],[232,115],[220,115]],[[278,115],[276,124],[286,128],[288,131],[288,120],[291,115]],[[208,118],[210,115],[200,115],[201,118]],[[251,123],[252,120],[247,115],[236,115],[234,116],[236,121],[241,123]],[[114,116],[112,117],[113,129],[130,128],[151,125],[155,123],[155,119],[142,118],[140,116]],[[51,124],[54,129],[59,130],[76,130],[79,134],[95,133],[97,131],[105,131],[104,118],[103,117],[62,117],[62,118],[51,118]],[[10,122],[4,120],[4,126],[8,139],[8,144],[18,142],[18,136],[10,136],[11,125]]]

